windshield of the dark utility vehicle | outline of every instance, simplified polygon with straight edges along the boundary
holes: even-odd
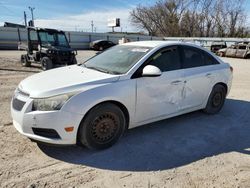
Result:
[[[42,46],[68,46],[66,37],[62,33],[39,32]]]

